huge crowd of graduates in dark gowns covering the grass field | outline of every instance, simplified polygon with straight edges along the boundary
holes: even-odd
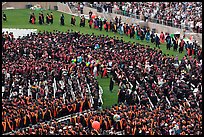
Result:
[[[92,14],[90,29],[128,35],[155,47],[72,30],[22,38],[3,32],[2,133],[201,135],[201,47],[184,42],[185,35],[172,38],[161,32],[159,36],[148,28],[122,23],[121,18],[108,22]],[[43,16],[39,13],[40,24]],[[46,24],[53,23],[52,13],[46,18]],[[31,14],[30,23],[35,20]],[[60,20],[64,25],[63,14]],[[72,16],[71,24],[78,25],[75,22]],[[85,26],[84,16],[79,25]],[[167,49],[186,52],[185,56],[179,60],[162,53],[160,43],[165,42]],[[110,92],[119,86],[118,104],[111,108],[102,108],[98,76],[110,79]],[[58,120],[67,115],[69,119]],[[100,123],[99,129],[93,127],[94,121]]]

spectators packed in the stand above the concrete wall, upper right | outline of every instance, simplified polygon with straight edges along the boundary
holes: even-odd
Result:
[[[186,29],[191,28],[195,32],[202,17],[201,2],[99,2],[98,5],[102,5],[108,12],[112,9],[110,7],[114,7],[116,13],[177,28],[181,28],[181,23],[186,22]],[[199,28],[202,28],[202,25],[199,25]]]

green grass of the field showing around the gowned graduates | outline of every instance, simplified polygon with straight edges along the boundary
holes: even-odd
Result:
[[[90,29],[88,26],[88,22],[86,21],[86,26],[85,27],[79,27],[79,21],[80,18],[76,17],[76,26],[71,26],[70,22],[71,22],[71,15],[69,14],[64,14],[65,17],[65,26],[60,26],[60,16],[61,16],[61,12],[58,11],[54,11],[54,10],[47,10],[47,11],[43,11],[44,16],[46,16],[47,13],[53,12],[54,15],[54,23],[52,25],[39,25],[38,24],[38,15],[39,15],[39,11],[32,11],[30,9],[12,9],[12,10],[3,10],[3,12],[7,15],[7,22],[3,22],[2,21],[2,28],[24,28],[24,29],[37,29],[38,31],[53,31],[53,30],[59,30],[59,31],[67,31],[69,30],[73,30],[73,31],[80,31],[81,33],[84,34],[92,34],[94,33],[95,35],[108,35],[108,36],[115,36],[115,37],[123,37],[124,41],[127,42],[137,42],[140,44],[144,44],[144,45],[150,45],[150,47],[155,47],[154,44],[152,43],[147,43],[146,41],[141,41],[141,40],[136,40],[136,39],[130,39],[128,36],[126,35],[120,35],[120,34],[114,34],[113,32],[106,32],[104,30],[99,31],[96,29]],[[35,16],[36,16],[36,24],[30,24],[29,23],[29,18],[30,18],[30,13],[34,12]],[[178,53],[178,52],[174,52],[173,49],[166,50],[166,44],[161,44],[160,45],[161,50],[164,54],[169,54],[171,55],[178,55],[179,59],[181,59],[184,56],[184,53]],[[109,91],[109,78],[98,78],[99,84],[101,85],[101,87],[103,88],[103,107],[110,107],[114,104],[117,103],[117,91],[118,91],[118,86],[114,86],[114,90],[113,93],[110,93]]]

